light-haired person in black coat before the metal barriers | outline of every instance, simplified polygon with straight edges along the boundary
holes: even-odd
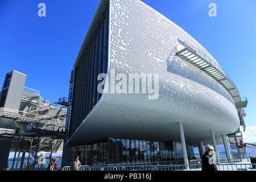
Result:
[[[205,153],[202,156],[202,171],[218,171],[216,165],[213,163],[214,148],[209,144],[205,146]]]

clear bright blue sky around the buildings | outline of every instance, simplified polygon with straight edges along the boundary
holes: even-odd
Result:
[[[0,85],[5,73],[27,74],[26,86],[55,102],[68,96],[77,53],[100,0],[1,0]],[[46,4],[46,17],[38,4]],[[143,0],[204,46],[246,96],[247,126],[256,125],[256,1]],[[209,3],[217,17],[208,15]],[[250,128],[249,128],[250,129]],[[255,130],[254,130],[255,131]],[[256,134],[255,134],[256,136]]]

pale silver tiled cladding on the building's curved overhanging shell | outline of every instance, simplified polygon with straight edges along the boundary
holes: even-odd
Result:
[[[211,143],[239,127],[232,97],[200,68],[176,57],[168,60],[177,38],[212,57],[171,20],[137,0],[110,0],[109,64],[118,73],[159,73],[158,100],[147,94],[103,94],[68,145],[107,137]]]

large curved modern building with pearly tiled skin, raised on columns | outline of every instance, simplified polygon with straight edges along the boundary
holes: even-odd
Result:
[[[71,155],[64,154],[63,165],[75,155],[83,165],[188,164],[193,147],[203,155],[206,144],[218,162],[216,145],[231,158],[227,135],[234,142],[234,133],[245,130],[247,100],[232,79],[192,36],[142,1],[101,0],[73,67],[65,145]],[[115,78],[101,85],[103,93],[100,73]],[[140,92],[126,93],[128,82],[117,88],[132,74]],[[143,74],[159,76],[152,79],[159,81],[156,99],[142,92]]]

